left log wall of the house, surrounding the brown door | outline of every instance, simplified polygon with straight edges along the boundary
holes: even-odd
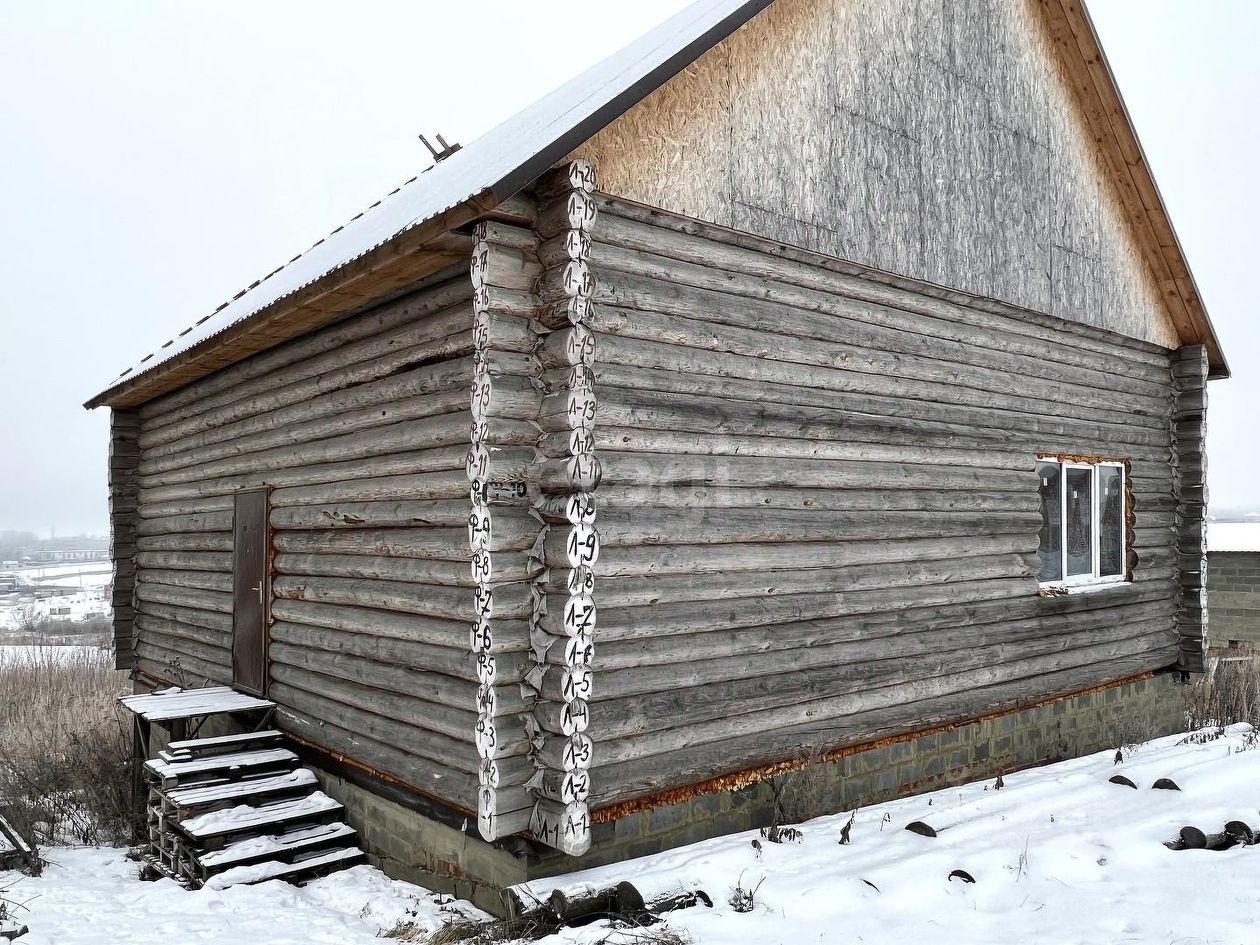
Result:
[[[500,329],[495,363],[525,358],[528,333]],[[537,527],[524,510],[504,515],[493,539],[470,547],[474,349],[461,266],[142,406],[137,668],[192,685],[231,682],[233,493],[268,485],[268,694],[280,723],[475,809],[474,732],[488,711],[467,650],[476,549],[523,558]],[[485,427],[505,450],[536,440],[512,416]],[[495,600],[522,626],[523,580]],[[499,656],[505,684],[523,677],[527,646],[523,631]],[[504,692],[491,717],[520,712],[519,688]],[[524,753],[519,724],[501,748]]]

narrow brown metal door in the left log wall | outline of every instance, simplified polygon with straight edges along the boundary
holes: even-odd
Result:
[[[232,528],[232,685],[267,690],[267,490],[237,493]]]

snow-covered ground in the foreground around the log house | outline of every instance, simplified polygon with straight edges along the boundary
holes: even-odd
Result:
[[[790,942],[1260,942],[1260,845],[1173,852],[1163,840],[1183,825],[1207,833],[1227,820],[1260,828],[1260,746],[1235,726],[1205,743],[1162,738],[1114,764],[1108,751],[1060,765],[800,824],[799,843],[756,832],[532,885],[544,897],[629,879],[648,897],[704,890],[713,908],[668,916],[697,945]],[[1115,774],[1137,790],[1108,781]],[[1171,777],[1181,791],[1153,790]],[[912,820],[936,838],[905,830]],[[753,845],[757,840],[760,849]],[[30,945],[202,942],[204,945],[364,945],[398,921],[436,927],[450,906],[369,867],[304,888],[278,882],[184,892],[170,881],[141,883],[116,849],[54,849],[39,878],[10,898]],[[950,879],[964,869],[975,883]],[[756,887],[751,912],[728,903],[736,886]],[[471,907],[462,905],[471,912]],[[592,945],[606,924],[564,929],[546,945]],[[610,941],[643,942],[633,932]]]

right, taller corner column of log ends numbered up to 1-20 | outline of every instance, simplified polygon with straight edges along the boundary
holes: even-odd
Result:
[[[593,339],[586,326],[592,277],[587,265],[595,223],[595,174],[585,161],[563,165],[536,189],[534,233],[542,272],[534,287],[537,354],[542,369],[542,461],[532,470],[543,522],[533,558],[530,622],[536,665],[525,678],[533,692],[528,719],[536,771],[530,833],[566,853],[591,844],[588,770],[593,656],[595,564],[600,536],[595,496],[600,467],[593,451],[596,415]]]

